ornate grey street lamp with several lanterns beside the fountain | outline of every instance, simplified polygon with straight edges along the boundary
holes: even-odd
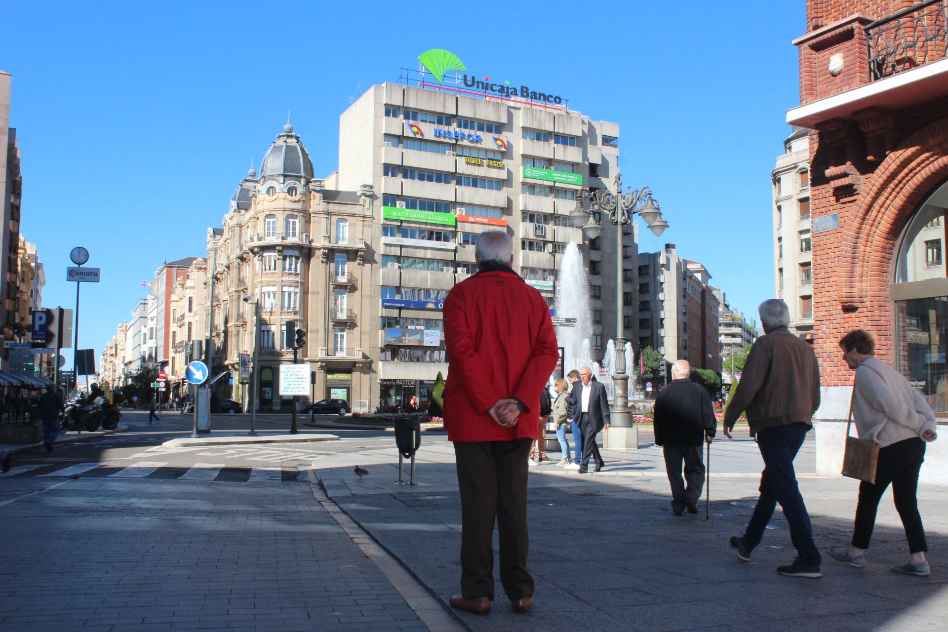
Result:
[[[608,214],[609,221],[616,226],[616,290],[615,290],[615,359],[612,364],[612,410],[611,425],[631,427],[634,424],[629,410],[629,375],[626,373],[626,337],[623,323],[622,282],[623,267],[622,233],[623,226],[632,222],[632,216],[638,215],[647,224],[656,237],[665,232],[668,223],[662,218],[662,210],[652,199],[651,189],[622,190],[622,174],[615,174],[615,193],[610,190],[590,191],[582,189],[576,194],[576,208],[570,213],[570,220],[576,228],[582,228],[587,239],[593,240],[602,231],[602,225],[596,216],[601,212]],[[583,200],[589,200],[590,206],[583,208]]]

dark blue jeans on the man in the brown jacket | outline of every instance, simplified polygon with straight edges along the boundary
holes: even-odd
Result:
[[[810,515],[793,471],[793,459],[810,427],[810,424],[797,422],[766,428],[757,433],[757,448],[764,460],[764,471],[760,475],[760,497],[744,532],[744,546],[748,551],[760,544],[764,529],[779,502],[790,525],[790,539],[797,555],[806,563],[820,564],[820,551],[813,542]]]

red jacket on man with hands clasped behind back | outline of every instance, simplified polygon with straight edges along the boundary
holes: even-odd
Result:
[[[513,270],[496,266],[455,285],[444,316],[447,439],[536,439],[540,391],[559,357],[546,301]],[[510,428],[487,414],[508,397],[526,406]]]

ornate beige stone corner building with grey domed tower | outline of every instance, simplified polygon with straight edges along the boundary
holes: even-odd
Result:
[[[292,363],[296,351],[313,376],[297,406],[315,397],[361,409],[372,361],[369,322],[357,315],[368,314],[372,288],[363,255],[373,202],[371,187],[327,190],[314,178],[309,153],[287,122],[259,175],[251,169],[234,191],[224,226],[209,230],[209,261],[216,262],[212,372],[240,375],[241,355],[253,355],[255,328],[260,364],[258,392],[251,395],[239,379],[221,380],[218,396],[245,402],[246,410],[253,399],[261,411],[292,410],[294,400],[280,391],[280,365]]]

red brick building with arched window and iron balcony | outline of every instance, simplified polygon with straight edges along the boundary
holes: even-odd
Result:
[[[948,413],[946,21],[948,0],[808,0],[794,41],[787,122],[811,130],[813,345],[825,401],[842,408],[824,419],[846,416],[837,344],[857,327]]]

